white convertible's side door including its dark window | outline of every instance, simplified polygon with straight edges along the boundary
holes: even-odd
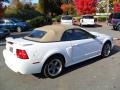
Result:
[[[82,29],[72,31],[72,58],[75,62],[81,62],[97,56],[101,51],[101,42],[95,36]]]

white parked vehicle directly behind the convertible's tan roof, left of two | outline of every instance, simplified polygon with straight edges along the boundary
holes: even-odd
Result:
[[[61,24],[73,25],[73,17],[70,15],[61,16]]]

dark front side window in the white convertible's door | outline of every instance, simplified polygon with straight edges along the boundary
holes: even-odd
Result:
[[[92,38],[91,34],[87,33],[82,29],[74,29],[72,35],[73,35],[72,40],[82,40],[82,39]]]

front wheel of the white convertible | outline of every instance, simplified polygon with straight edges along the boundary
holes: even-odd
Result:
[[[102,48],[101,57],[108,57],[111,53],[111,43],[106,42]]]

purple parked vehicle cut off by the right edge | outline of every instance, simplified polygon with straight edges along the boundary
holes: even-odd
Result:
[[[114,30],[117,29],[117,25],[119,22],[120,22],[120,13],[113,13],[111,23]]]

